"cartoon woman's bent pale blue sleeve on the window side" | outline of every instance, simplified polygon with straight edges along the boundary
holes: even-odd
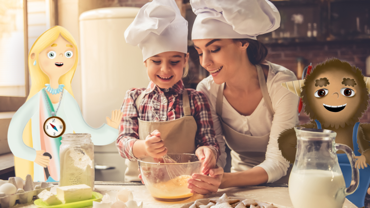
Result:
[[[39,93],[36,93],[14,114],[8,129],[8,144],[14,156],[29,161],[36,159],[36,150],[27,146],[22,139],[23,131],[28,121],[38,109]]]

